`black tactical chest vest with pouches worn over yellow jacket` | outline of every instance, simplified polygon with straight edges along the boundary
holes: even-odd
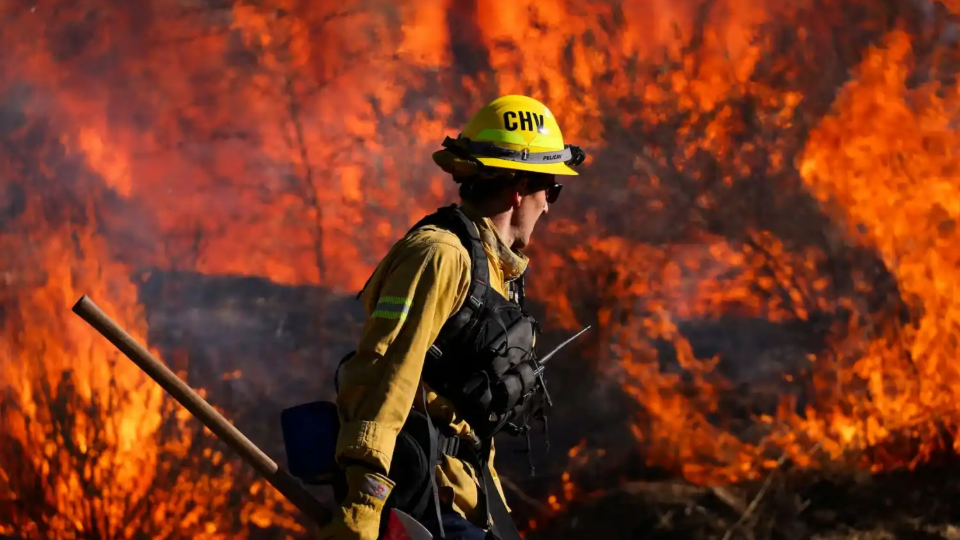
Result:
[[[423,378],[481,440],[501,430],[526,433],[542,413],[545,387],[534,352],[540,329],[523,309],[523,278],[510,284],[515,301],[490,286],[479,232],[459,206],[439,209],[411,231],[426,226],[456,234],[470,253],[471,268],[467,299],[430,346]]]

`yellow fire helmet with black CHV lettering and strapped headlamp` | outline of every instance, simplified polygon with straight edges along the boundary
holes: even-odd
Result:
[[[477,174],[529,171],[572,176],[586,154],[563,143],[546,105],[527,96],[499,97],[467,122],[456,139],[447,137],[433,160],[457,180]],[[489,170],[492,168],[493,170]]]

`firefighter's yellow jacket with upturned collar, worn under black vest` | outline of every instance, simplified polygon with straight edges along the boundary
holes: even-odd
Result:
[[[480,232],[490,269],[490,285],[504,297],[509,283],[524,272],[528,259],[500,238],[493,223],[464,212]],[[367,312],[356,355],[340,375],[340,435],[337,459],[364,462],[389,473],[397,435],[416,402],[423,410],[420,374],[427,349],[440,328],[460,309],[470,285],[470,255],[452,232],[427,226],[411,232],[390,249],[364,289]],[[444,361],[456,361],[446,358]],[[453,406],[427,387],[428,411],[438,426],[449,425],[468,437],[471,428]],[[493,468],[500,495],[503,489]],[[437,471],[441,498],[478,526],[486,516],[480,503],[480,476],[469,464],[443,456]]]

